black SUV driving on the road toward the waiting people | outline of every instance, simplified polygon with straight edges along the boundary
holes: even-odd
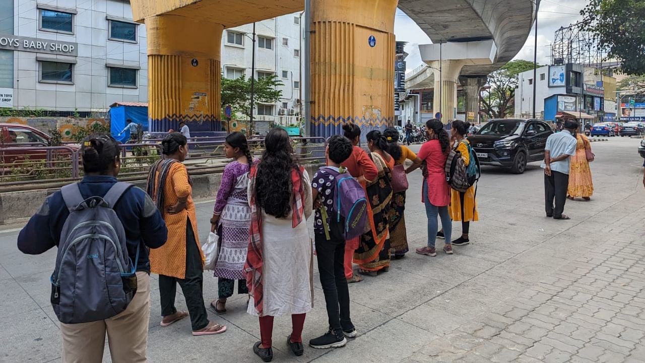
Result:
[[[551,134],[550,125],[539,119],[493,119],[468,141],[482,165],[522,174],[526,163],[544,160],[546,138]]]

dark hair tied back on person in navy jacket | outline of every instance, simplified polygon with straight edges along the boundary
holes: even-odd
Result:
[[[83,139],[81,159],[84,172],[108,172],[118,158],[119,143],[112,136],[93,134]]]

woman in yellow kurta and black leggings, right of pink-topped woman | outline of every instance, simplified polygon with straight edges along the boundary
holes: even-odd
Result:
[[[455,150],[461,152],[462,158],[464,158],[464,163],[466,166],[470,165],[470,143],[466,140],[466,134],[468,134],[468,124],[464,121],[453,121],[451,136],[457,142]],[[473,161],[474,162],[474,161]],[[461,221],[461,237],[452,241],[453,245],[467,245],[470,244],[468,239],[468,231],[470,230],[470,222],[479,220],[479,214],[477,213],[477,201],[475,200],[475,187],[468,188],[466,192],[459,192],[452,189],[452,198],[450,202],[450,218],[455,221]],[[442,231],[440,232],[443,236]]]

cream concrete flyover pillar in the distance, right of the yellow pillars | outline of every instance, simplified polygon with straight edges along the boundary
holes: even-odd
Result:
[[[428,65],[432,67],[435,75],[435,96],[433,99],[433,114],[441,112],[441,121],[450,123],[455,121],[457,112],[457,79],[461,68],[466,64],[465,61],[430,61]],[[441,67],[441,72],[439,71]],[[441,92],[440,92],[441,87]]]

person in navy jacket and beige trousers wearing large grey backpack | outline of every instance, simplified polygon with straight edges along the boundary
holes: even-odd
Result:
[[[112,136],[92,135],[83,141],[81,158],[83,160],[83,180],[70,184],[66,188],[80,192],[77,196],[82,203],[90,198],[101,198],[101,201],[110,200],[108,197],[112,187],[117,185],[117,175],[121,170],[119,158],[119,145]],[[64,229],[81,231],[81,226],[67,226],[65,222],[70,216],[72,200],[63,197],[63,192],[57,191],[48,196],[38,213],[34,214],[18,235],[18,249],[27,254],[45,253],[54,246],[65,243],[61,240]],[[61,322],[61,337],[63,351],[61,359],[64,363],[100,363],[103,361],[103,350],[107,335],[110,355],[113,362],[145,363],[146,347],[148,346],[148,325],[150,322],[150,260],[148,248],[155,251],[166,242],[166,224],[161,214],[154,206],[148,195],[137,187],[130,187],[117,198],[114,205],[109,205],[119,219],[119,225],[111,225],[114,234],[122,231],[125,236],[127,251],[123,251],[125,258],[129,257],[136,266],[136,293],[124,311],[103,320],[83,322],[77,324],[64,324]],[[95,208],[91,207],[91,208]],[[79,229],[75,229],[79,227]],[[100,230],[104,227],[93,225],[92,229]],[[68,234],[70,236],[70,234]],[[69,241],[69,240],[68,240]],[[88,245],[86,242],[92,242]],[[110,306],[117,298],[116,286],[106,287],[106,296],[87,296],[83,291],[89,288],[88,284],[97,282],[95,276],[103,273],[108,262],[107,249],[97,251],[100,239],[74,241],[72,254],[79,254],[77,265],[66,265],[68,269],[79,268],[75,284],[74,280],[66,279],[59,282],[59,297],[62,303],[66,301],[66,309],[92,309],[92,307]],[[113,241],[121,242],[121,241]],[[68,245],[69,242],[68,242]],[[94,248],[94,251],[92,249]],[[84,258],[83,251],[88,251],[88,258]],[[114,251],[113,251],[114,252]],[[61,254],[61,250],[58,252]],[[91,258],[90,258],[91,255]],[[114,254],[112,255],[114,256]],[[138,259],[136,257],[139,257]],[[110,258],[115,262],[114,258]],[[95,261],[94,263],[90,263]],[[99,263],[100,261],[100,263]],[[90,267],[88,269],[84,269]],[[95,271],[94,269],[100,269]],[[105,271],[106,272],[106,271]],[[95,273],[95,275],[92,275]],[[117,271],[118,273],[118,271]],[[67,274],[67,273],[65,273]],[[73,274],[73,273],[72,273]],[[90,276],[91,275],[91,276]],[[67,275],[70,277],[70,275]],[[79,280],[80,278],[80,280]],[[121,280],[120,277],[118,277]],[[105,283],[105,281],[103,282]],[[52,294],[52,301],[55,296]],[[114,302],[116,303],[116,302]]]

